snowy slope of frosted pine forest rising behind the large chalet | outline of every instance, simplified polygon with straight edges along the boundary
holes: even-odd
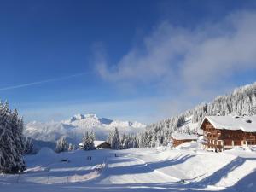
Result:
[[[140,147],[167,145],[172,132],[193,133],[206,115],[253,115],[256,114],[256,83],[236,88],[231,94],[217,96],[212,102],[204,102],[175,117],[161,120],[141,133]]]

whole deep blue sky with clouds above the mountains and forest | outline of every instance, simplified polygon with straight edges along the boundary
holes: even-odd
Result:
[[[26,121],[144,123],[256,79],[254,1],[5,1],[0,96]]]

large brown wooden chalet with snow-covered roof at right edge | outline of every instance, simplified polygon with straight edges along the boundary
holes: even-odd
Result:
[[[256,116],[207,116],[200,128],[202,147],[216,152],[256,144]]]

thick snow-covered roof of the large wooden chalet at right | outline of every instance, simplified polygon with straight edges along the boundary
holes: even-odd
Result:
[[[206,116],[205,119],[207,119],[216,129],[256,132],[256,115],[253,115],[253,116]],[[202,123],[204,122],[204,120],[202,121]]]

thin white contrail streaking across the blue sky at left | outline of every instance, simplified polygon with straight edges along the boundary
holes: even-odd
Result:
[[[27,83],[27,84],[17,84],[17,85],[13,85],[13,86],[0,88],[0,91],[1,90],[14,90],[14,89],[29,87],[29,86],[33,86],[33,85],[37,85],[37,84],[46,84],[46,83],[49,83],[49,82],[71,79],[71,78],[78,77],[78,76],[81,76],[81,75],[84,75],[84,74],[88,74],[88,73],[77,73],[77,74],[73,74],[73,75],[69,75],[69,76],[64,76],[64,77],[61,77],[61,78],[46,79],[46,80],[43,80],[43,81],[35,81],[35,82],[32,82],[32,83]]]

